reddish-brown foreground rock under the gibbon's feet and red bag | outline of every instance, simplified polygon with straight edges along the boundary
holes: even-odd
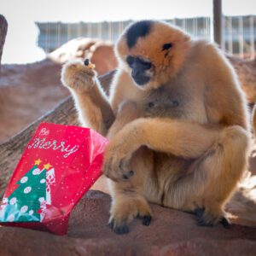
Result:
[[[195,216],[152,205],[145,227],[134,220],[127,235],[107,226],[110,198],[89,191],[71,214],[67,236],[0,228],[0,255],[255,255],[256,229],[234,224],[198,227]]]

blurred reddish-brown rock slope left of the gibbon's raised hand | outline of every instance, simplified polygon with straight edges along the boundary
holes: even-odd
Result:
[[[69,95],[61,85],[61,65],[50,60],[3,65],[0,77],[0,143]]]

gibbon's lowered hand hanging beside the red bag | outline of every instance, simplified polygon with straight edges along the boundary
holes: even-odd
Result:
[[[125,181],[134,174],[130,160],[130,151],[125,148],[123,140],[114,140],[105,150],[102,171],[115,182]]]

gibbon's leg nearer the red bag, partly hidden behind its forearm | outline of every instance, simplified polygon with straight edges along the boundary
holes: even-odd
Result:
[[[142,117],[142,115],[143,109],[136,102],[122,102],[119,106],[116,119],[108,131],[108,138],[111,140],[119,132],[120,127],[123,127],[134,119]],[[145,158],[145,154],[148,156],[147,152],[148,149],[139,149],[137,155],[131,159],[132,169],[140,170],[140,172],[137,172],[136,179],[131,177],[128,183],[114,183],[109,180],[110,194],[112,196],[109,226],[117,234],[127,233],[129,231],[128,224],[133,218],[143,218],[144,225],[150,223],[151,210],[142,191],[140,191],[143,188],[143,176],[146,173],[143,170],[151,166],[150,163],[147,165],[142,161]]]

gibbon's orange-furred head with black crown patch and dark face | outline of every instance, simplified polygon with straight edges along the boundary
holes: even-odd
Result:
[[[177,27],[142,20],[121,35],[116,55],[139,88],[156,89],[183,66],[190,44],[189,35]]]

